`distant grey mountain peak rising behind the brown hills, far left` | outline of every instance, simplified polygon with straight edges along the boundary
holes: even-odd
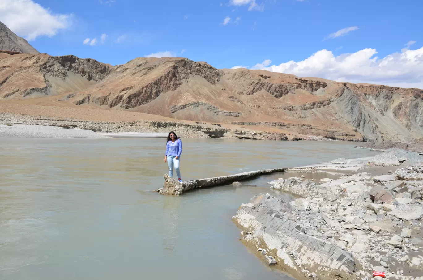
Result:
[[[23,52],[31,55],[39,54],[27,40],[17,36],[2,22],[0,22],[0,50]]]

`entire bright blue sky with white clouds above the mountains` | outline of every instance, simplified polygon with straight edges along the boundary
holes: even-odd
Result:
[[[0,21],[50,55],[115,65],[166,52],[219,69],[243,66],[423,88],[423,1],[0,3]]]

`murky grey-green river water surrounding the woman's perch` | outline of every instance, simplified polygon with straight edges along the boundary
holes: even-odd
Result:
[[[184,180],[376,154],[338,142],[183,144]],[[248,252],[231,221],[282,175],[159,195],[164,148],[163,139],[0,138],[0,279],[288,279]]]

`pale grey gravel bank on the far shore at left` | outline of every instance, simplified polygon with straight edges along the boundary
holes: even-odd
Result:
[[[31,138],[110,138],[91,130],[64,129],[55,126],[36,126],[15,124],[13,126],[0,124],[0,137],[31,137]]]

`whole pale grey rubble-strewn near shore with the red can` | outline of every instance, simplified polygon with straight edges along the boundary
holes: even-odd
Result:
[[[286,170],[234,222],[267,264],[297,279],[423,279],[423,156],[393,149]],[[304,179],[302,172],[339,174]],[[333,177],[332,177],[333,178]],[[297,197],[278,198],[280,192]]]

